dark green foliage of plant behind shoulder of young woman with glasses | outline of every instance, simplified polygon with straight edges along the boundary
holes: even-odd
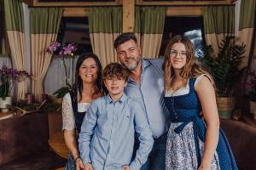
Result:
[[[205,61],[209,72],[216,84],[218,96],[228,97],[232,94],[234,85],[239,80],[242,70],[240,69],[245,44],[236,45],[235,37],[228,36],[220,43],[217,56],[212,56],[212,47],[204,48]]]

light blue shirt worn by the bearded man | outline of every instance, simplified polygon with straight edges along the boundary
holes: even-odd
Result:
[[[153,137],[158,139],[168,129],[168,115],[163,106],[163,59],[142,59],[142,64],[140,84],[129,78],[125,94],[143,105]]]

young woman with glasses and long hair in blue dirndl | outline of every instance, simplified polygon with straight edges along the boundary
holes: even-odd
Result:
[[[195,64],[194,53],[189,38],[179,35],[165,52],[164,101],[171,117],[166,169],[237,169],[230,145],[219,130],[212,77]]]

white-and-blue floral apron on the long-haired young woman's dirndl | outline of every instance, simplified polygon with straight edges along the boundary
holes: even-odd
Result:
[[[193,133],[193,122],[183,128],[181,133],[175,133],[174,129],[181,125],[181,122],[171,123],[167,135],[166,147],[166,170],[192,170],[197,169],[198,162],[196,157]],[[199,139],[199,145],[202,151],[204,150],[204,143]],[[218,162],[218,154],[215,152],[212,160],[211,169],[220,170]]]

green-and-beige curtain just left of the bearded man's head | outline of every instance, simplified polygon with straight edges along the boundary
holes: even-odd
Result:
[[[90,8],[88,20],[92,50],[102,66],[117,62],[113,41],[122,31],[122,8]]]

